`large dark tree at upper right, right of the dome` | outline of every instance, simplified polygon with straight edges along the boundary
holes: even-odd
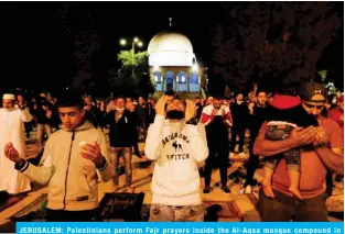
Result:
[[[341,20],[332,2],[224,4],[225,22],[213,36],[213,73],[242,90],[310,80]]]

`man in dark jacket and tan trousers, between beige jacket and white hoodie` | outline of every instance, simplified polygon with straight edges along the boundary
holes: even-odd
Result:
[[[125,98],[117,98],[116,108],[107,114],[107,125],[109,126],[110,140],[110,163],[114,167],[114,190],[119,188],[119,157],[122,155],[126,170],[126,189],[133,192],[132,181],[132,145],[137,137],[137,122],[133,114],[125,109]]]

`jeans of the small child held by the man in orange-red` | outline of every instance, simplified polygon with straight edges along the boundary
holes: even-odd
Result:
[[[268,125],[265,134],[265,138],[270,141],[281,141],[290,136],[293,126],[285,125]],[[287,161],[288,170],[301,170],[300,148],[291,148],[280,155],[267,157],[265,159],[265,166],[274,170],[281,158]]]

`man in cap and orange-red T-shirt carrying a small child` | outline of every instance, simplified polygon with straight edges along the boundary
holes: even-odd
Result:
[[[254,154],[263,157],[274,156],[290,148],[301,148],[300,191],[303,200],[292,197],[289,191],[289,175],[285,160],[280,160],[273,177],[274,198],[266,197],[260,191],[258,209],[262,221],[327,221],[324,197],[324,182],[327,169],[344,172],[343,140],[338,125],[321,115],[326,101],[325,88],[315,82],[302,86],[300,90],[302,105],[309,114],[317,118],[322,126],[323,144],[316,143],[320,127],[297,127],[282,141],[265,140],[267,124],[263,123],[254,145]]]

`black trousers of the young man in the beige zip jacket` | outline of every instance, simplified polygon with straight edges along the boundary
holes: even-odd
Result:
[[[99,209],[86,211],[64,211],[46,209],[47,222],[90,222],[98,221]]]

